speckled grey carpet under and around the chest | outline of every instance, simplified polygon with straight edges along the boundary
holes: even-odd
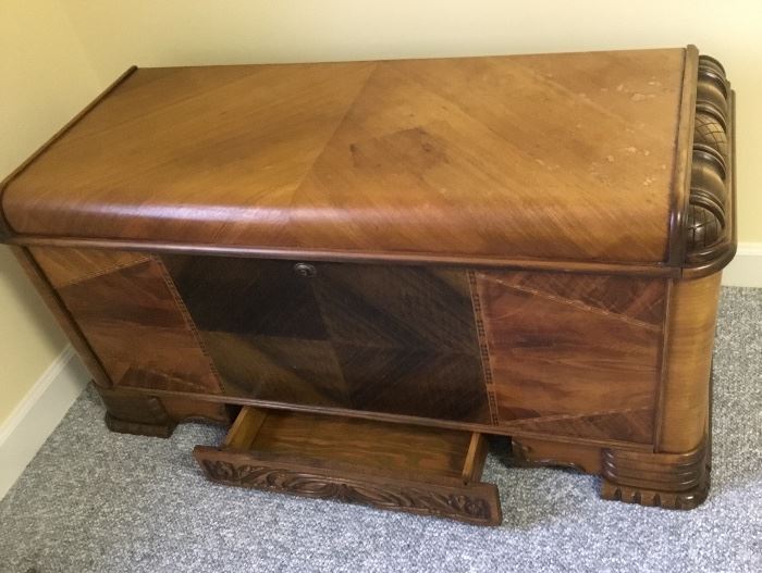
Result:
[[[490,454],[505,514],[486,528],[213,485],[190,450],[111,434],[83,394],[0,501],[0,571],[762,571],[762,289],[723,289],[709,500],[689,512],[598,498],[598,479],[509,469]]]

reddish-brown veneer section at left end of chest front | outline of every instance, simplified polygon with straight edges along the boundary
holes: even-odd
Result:
[[[159,260],[95,249],[34,254],[115,385],[221,391]]]

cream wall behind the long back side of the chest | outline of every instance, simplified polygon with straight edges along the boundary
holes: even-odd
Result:
[[[64,0],[100,80],[130,64],[359,60],[696,43],[738,90],[738,226],[762,241],[759,0]]]

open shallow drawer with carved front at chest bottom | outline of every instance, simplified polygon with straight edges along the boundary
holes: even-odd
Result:
[[[487,449],[478,433],[247,407],[194,457],[222,484],[497,525]]]

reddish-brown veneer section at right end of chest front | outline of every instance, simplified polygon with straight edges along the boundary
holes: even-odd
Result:
[[[666,283],[477,275],[500,425],[650,444]]]

